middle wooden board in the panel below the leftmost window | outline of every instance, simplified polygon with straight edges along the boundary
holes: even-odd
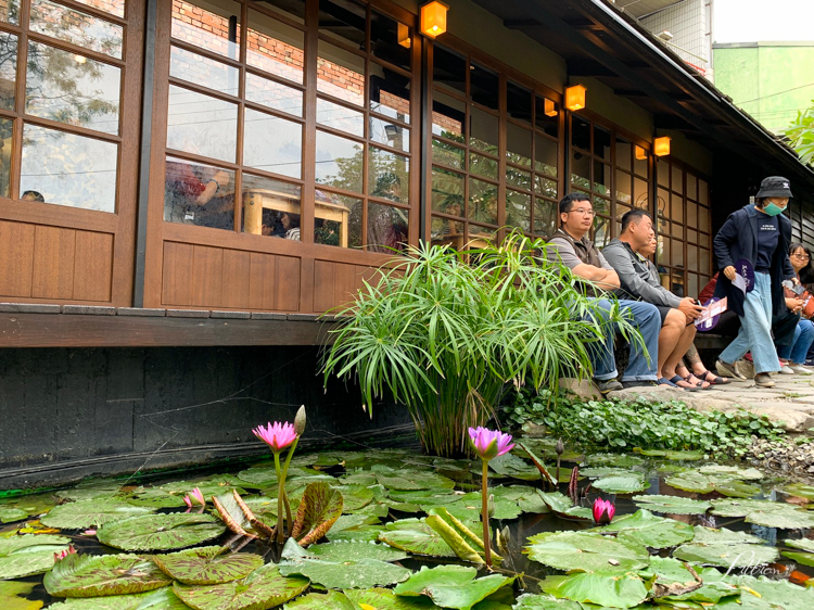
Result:
[[[75,255],[74,229],[38,226],[34,232],[31,296],[73,298]]]

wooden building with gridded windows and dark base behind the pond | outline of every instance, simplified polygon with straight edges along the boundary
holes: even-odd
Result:
[[[9,481],[256,450],[306,399],[403,422],[319,397],[316,317],[404,244],[545,237],[571,190],[599,243],[649,209],[682,295],[766,175],[814,238],[814,173],[612,3],[448,5],[431,38],[412,0],[0,0]]]

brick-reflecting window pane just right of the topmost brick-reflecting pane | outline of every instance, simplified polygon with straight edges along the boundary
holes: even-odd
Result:
[[[249,11],[246,63],[280,78],[303,81],[303,33],[274,17]]]

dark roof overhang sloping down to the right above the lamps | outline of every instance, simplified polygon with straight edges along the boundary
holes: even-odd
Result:
[[[783,170],[814,191],[814,170],[652,34],[606,0],[474,0],[589,76],[713,152]],[[801,185],[802,186],[802,185]]]

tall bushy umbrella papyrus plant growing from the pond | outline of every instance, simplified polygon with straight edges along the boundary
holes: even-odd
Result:
[[[643,344],[618,304],[600,312],[542,241],[517,233],[466,255],[412,249],[338,314],[349,321],[325,354],[326,382],[355,376],[371,415],[391,395],[424,449],[449,457],[471,455],[467,430],[486,422],[508,382],[556,391],[562,377],[588,376],[588,347],[610,323]]]

